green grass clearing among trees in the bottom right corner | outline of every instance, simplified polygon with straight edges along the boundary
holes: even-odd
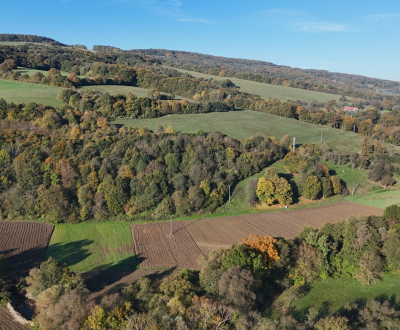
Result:
[[[311,286],[310,291],[290,307],[298,319],[304,320],[310,307],[322,314],[333,314],[354,301],[395,300],[400,302],[400,274],[385,275],[382,281],[363,285],[350,278],[329,279]]]

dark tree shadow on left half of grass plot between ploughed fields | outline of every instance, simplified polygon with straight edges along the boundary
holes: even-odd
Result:
[[[94,241],[83,239],[65,244],[52,244],[49,246],[48,255],[58,262],[66,263],[68,267],[70,267],[80,263],[91,255],[87,247],[92,243],[94,243]]]

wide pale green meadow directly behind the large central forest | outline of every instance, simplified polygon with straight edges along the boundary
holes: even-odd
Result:
[[[342,152],[358,150],[362,141],[362,136],[359,134],[351,132],[341,134],[340,130],[327,126],[250,110],[170,115],[154,119],[117,119],[112,123],[132,127],[147,126],[152,130],[160,123],[164,128],[172,125],[177,132],[220,131],[239,139],[249,138],[255,134],[281,139],[283,135],[290,134],[296,137],[297,144],[319,143],[323,133],[323,141],[328,145],[335,143],[335,147],[340,147]],[[338,141],[341,143],[336,146]]]

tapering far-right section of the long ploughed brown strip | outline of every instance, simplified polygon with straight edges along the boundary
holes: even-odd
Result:
[[[264,235],[294,238],[304,227],[320,228],[324,223],[336,223],[350,216],[382,215],[383,210],[352,202],[311,207],[307,209],[246,215],[239,218]]]

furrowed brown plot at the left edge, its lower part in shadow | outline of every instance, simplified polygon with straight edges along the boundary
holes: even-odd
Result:
[[[46,257],[54,226],[33,222],[0,222],[0,254],[13,276],[26,276]]]

